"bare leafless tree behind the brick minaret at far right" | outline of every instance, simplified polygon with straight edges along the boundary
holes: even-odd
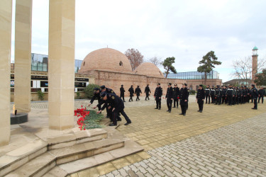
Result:
[[[262,69],[266,67],[266,59],[265,57],[261,58],[257,61],[257,72],[261,72]],[[254,71],[252,68],[252,57],[245,57],[243,59],[236,59],[233,61],[233,73],[231,76],[237,79],[243,79],[247,83],[248,86],[253,82],[252,72]]]

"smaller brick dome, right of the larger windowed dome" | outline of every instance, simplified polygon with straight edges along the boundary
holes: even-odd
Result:
[[[164,78],[160,69],[156,67],[155,64],[149,62],[140,64],[140,66],[134,70],[134,74]]]

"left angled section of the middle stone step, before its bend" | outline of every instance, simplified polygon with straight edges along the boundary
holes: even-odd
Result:
[[[55,167],[55,156],[45,152],[35,159],[24,164],[20,168],[7,174],[6,177],[13,176],[43,176],[47,171]]]

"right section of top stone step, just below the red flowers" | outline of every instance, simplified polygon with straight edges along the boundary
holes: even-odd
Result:
[[[48,142],[48,150],[60,149],[63,147],[71,147],[75,144],[82,144],[84,142],[93,142],[107,137],[107,132],[102,129],[94,130],[75,130],[72,134],[60,135],[57,137],[50,137],[45,139]]]

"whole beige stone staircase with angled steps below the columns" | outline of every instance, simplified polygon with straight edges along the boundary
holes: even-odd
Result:
[[[111,127],[36,139],[0,157],[0,176],[67,176],[143,151]]]

